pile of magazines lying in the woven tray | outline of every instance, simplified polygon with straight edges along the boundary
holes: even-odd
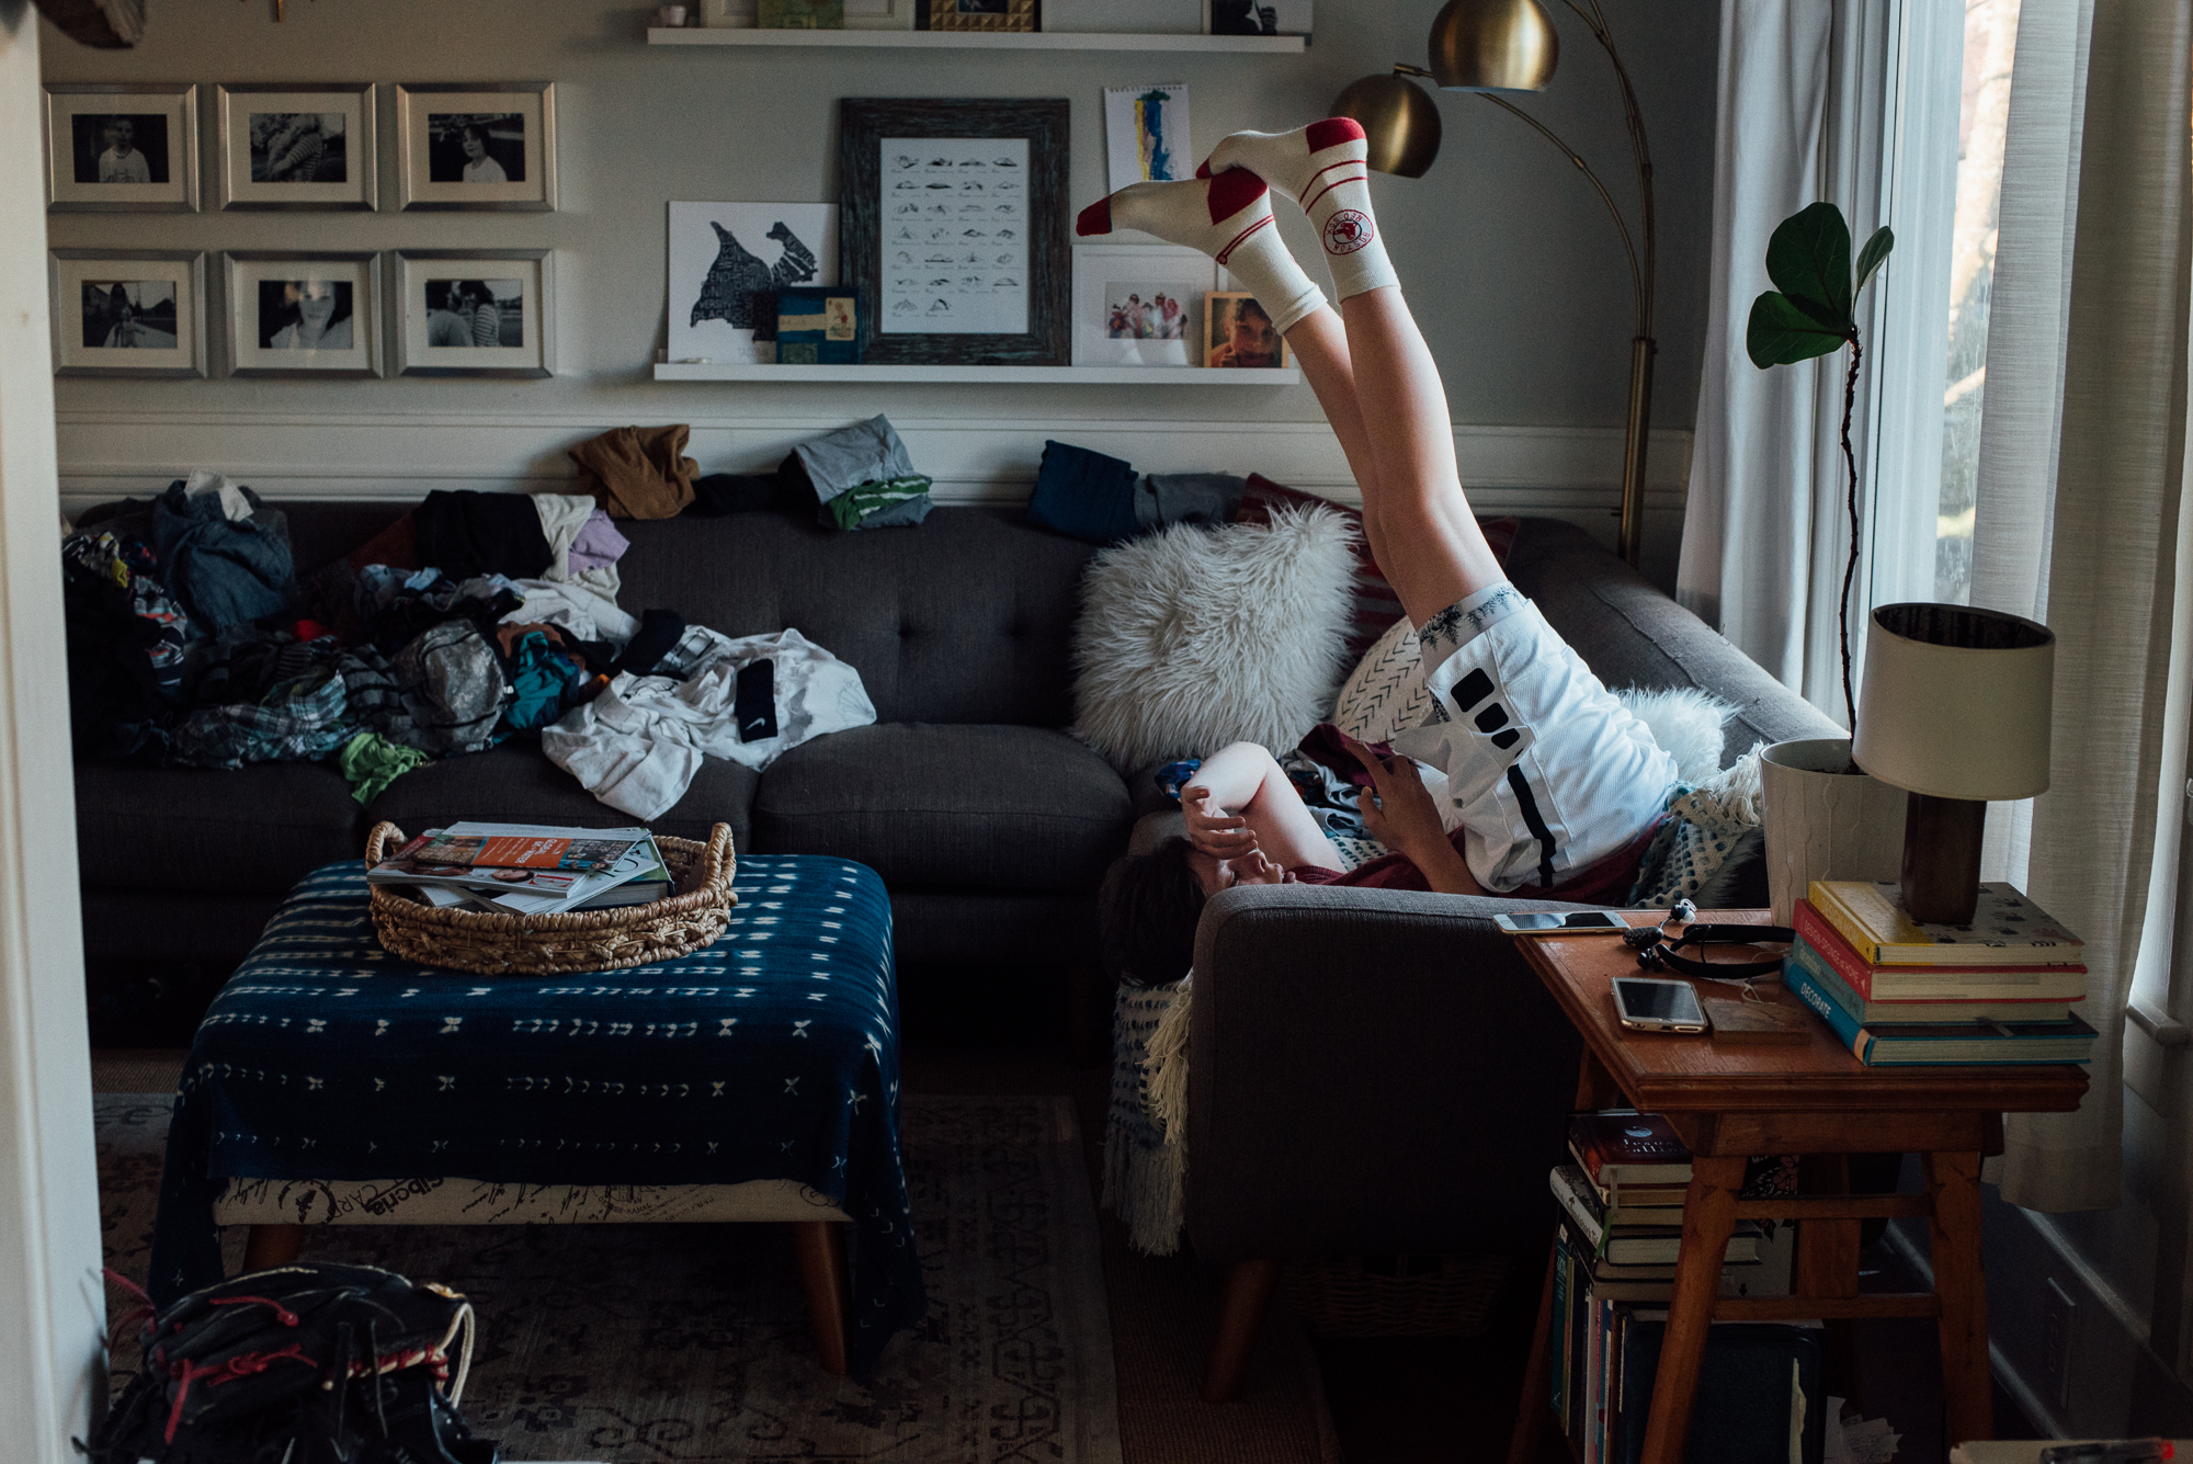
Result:
[[[428,828],[366,870],[366,883],[410,885],[430,905],[493,914],[647,905],[678,888],[645,828],[546,824]]]

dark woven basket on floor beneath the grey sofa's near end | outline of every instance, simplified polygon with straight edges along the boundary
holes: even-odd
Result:
[[[1281,1267],[1294,1311],[1318,1337],[1478,1337],[1507,1273],[1507,1256],[1349,1256]]]

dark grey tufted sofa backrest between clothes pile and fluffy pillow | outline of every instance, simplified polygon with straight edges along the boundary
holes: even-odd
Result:
[[[298,570],[351,552],[401,513],[281,508]],[[917,528],[868,533],[781,513],[621,522],[632,552],[618,563],[618,603],[675,609],[726,636],[796,629],[860,671],[879,721],[1064,728],[1077,587],[1094,548],[1024,515],[936,508]]]

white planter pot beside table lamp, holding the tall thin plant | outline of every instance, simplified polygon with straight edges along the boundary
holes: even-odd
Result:
[[[1901,879],[1908,793],[1851,765],[1851,739],[1774,743],[1759,758],[1768,892],[1787,925],[1816,879]]]

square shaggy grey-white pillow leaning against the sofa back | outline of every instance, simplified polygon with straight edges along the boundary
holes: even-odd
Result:
[[[1294,747],[1344,666],[1355,528],[1329,508],[1162,533],[1081,579],[1075,732],[1116,767]]]

